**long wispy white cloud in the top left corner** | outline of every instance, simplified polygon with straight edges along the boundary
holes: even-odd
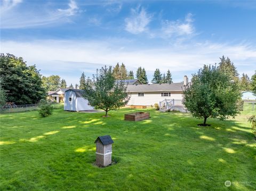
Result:
[[[51,7],[36,7],[34,9],[19,9],[18,0],[8,5],[1,5],[1,28],[31,28],[47,26],[50,24],[68,22],[69,17],[78,12],[78,6],[74,0],[70,0],[67,9],[55,9]],[[4,10],[4,11],[2,11]]]

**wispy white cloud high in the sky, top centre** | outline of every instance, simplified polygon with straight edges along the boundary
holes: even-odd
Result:
[[[139,34],[147,30],[152,16],[143,7],[138,6],[136,9],[131,9],[131,16],[125,19],[125,30],[132,34]]]

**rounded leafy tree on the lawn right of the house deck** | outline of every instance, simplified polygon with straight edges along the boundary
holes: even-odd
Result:
[[[241,92],[238,84],[230,80],[230,76],[214,66],[204,65],[197,74],[193,75],[191,85],[183,92],[183,104],[196,118],[235,117],[239,113],[238,102]]]

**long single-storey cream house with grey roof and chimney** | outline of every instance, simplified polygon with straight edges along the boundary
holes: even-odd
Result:
[[[182,93],[186,85],[188,85],[187,76],[184,77],[183,82],[179,83],[128,85],[126,92],[131,95],[131,98],[127,105],[150,106],[159,104],[164,99],[175,99],[182,105]]]

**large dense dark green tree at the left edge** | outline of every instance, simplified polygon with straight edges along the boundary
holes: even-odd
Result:
[[[46,96],[39,70],[35,65],[27,66],[22,57],[1,54],[0,76],[2,88],[8,93],[7,102],[34,104]]]

